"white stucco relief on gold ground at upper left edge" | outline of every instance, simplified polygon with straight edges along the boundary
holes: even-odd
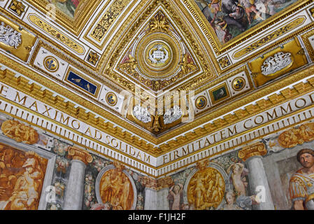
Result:
[[[1,22],[0,25],[0,42],[15,49],[22,43],[22,34],[18,31],[10,27],[9,25],[6,26],[4,22]]]

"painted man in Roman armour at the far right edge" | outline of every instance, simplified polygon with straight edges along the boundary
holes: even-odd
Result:
[[[294,210],[314,210],[314,151],[304,148],[297,154],[301,163],[290,179],[290,198]]]

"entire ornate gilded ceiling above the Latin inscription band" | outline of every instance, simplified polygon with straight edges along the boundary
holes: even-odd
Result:
[[[0,13],[2,83],[164,162],[311,90],[309,0],[7,0]]]

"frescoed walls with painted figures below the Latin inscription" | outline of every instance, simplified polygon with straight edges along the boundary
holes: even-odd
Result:
[[[38,209],[43,186],[55,190],[54,200],[44,208],[64,209],[69,203],[66,190],[73,174],[71,167],[73,160],[78,160],[69,154],[73,144],[2,113],[0,124],[5,126],[0,133],[0,209]],[[16,133],[6,132],[6,124],[15,124]],[[22,139],[16,138],[22,133],[20,130],[36,132],[36,143],[23,134]],[[8,141],[14,141],[14,146],[4,143]],[[83,166],[80,209],[143,210],[153,207],[154,197],[159,207],[170,210],[260,209],[266,202],[252,187],[256,180],[251,174],[261,169],[266,174],[263,183],[268,184],[264,187],[269,188],[273,209],[314,209],[313,141],[314,120],[309,120],[158,180],[91,153],[92,159]],[[255,148],[248,150],[251,146]],[[259,152],[259,146],[263,146],[263,151]],[[245,150],[248,154],[242,155]],[[49,167],[43,152],[55,158],[52,166]],[[252,158],[258,158],[262,166],[252,162]],[[45,183],[48,172],[52,172],[52,177]]]

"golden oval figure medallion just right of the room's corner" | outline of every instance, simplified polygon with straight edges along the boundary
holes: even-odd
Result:
[[[224,178],[213,167],[199,170],[187,186],[187,200],[195,209],[217,208],[224,198]]]

